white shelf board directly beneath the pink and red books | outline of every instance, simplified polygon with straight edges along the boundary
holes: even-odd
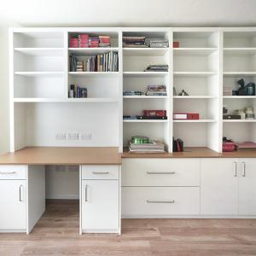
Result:
[[[69,54],[74,55],[102,55],[109,51],[119,51],[118,47],[95,47],[95,48],[68,48]]]

